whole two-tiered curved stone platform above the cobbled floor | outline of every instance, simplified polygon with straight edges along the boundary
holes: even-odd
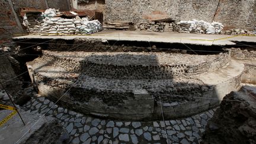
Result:
[[[216,107],[239,89],[244,71],[228,53],[44,50],[27,67],[41,96],[62,97],[63,105],[81,113],[123,120],[161,119],[162,110],[168,119],[186,117]]]

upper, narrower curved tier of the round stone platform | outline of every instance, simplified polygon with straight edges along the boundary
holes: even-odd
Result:
[[[69,72],[108,79],[170,79],[216,71],[227,65],[228,54],[181,55],[179,53],[50,52],[40,61]],[[32,64],[33,65],[33,64]]]

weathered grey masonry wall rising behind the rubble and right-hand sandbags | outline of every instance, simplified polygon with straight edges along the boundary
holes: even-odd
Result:
[[[256,23],[255,0],[106,0],[106,21],[135,23],[162,18],[219,21],[226,28],[253,30]]]

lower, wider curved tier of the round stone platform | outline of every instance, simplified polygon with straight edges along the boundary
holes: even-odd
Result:
[[[239,88],[244,70],[243,64],[231,60],[226,67],[190,79],[107,79],[45,63],[27,65],[41,95],[61,97],[62,103],[82,113],[136,120],[158,119],[162,110],[171,118],[215,107]]]

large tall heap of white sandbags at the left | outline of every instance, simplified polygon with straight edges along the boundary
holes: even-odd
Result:
[[[66,19],[55,17],[58,14],[56,9],[46,9],[43,14],[26,14],[23,24],[30,34],[40,36],[91,34],[102,30],[98,20],[89,21],[87,18]],[[29,16],[27,16],[29,15]]]

